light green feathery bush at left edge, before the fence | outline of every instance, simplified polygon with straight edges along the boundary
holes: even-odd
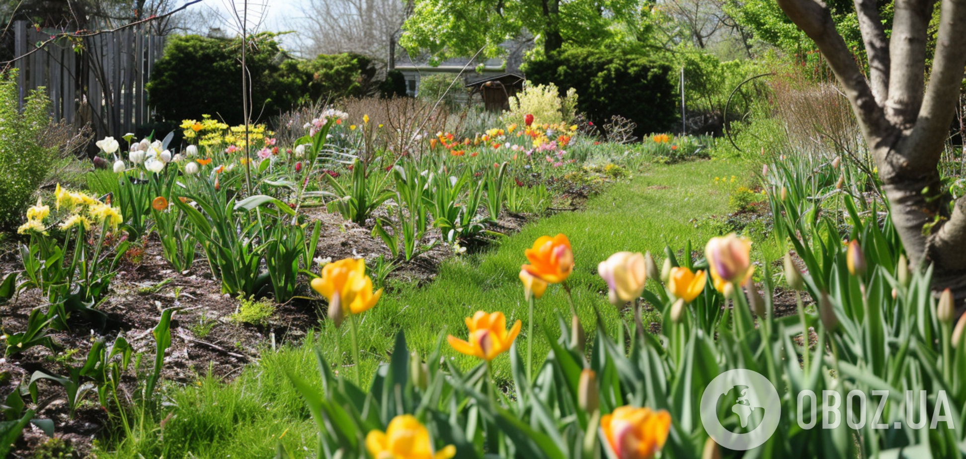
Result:
[[[39,135],[49,124],[43,88],[27,96],[23,111],[17,102],[14,72],[0,76],[0,228],[20,224],[24,210],[46,176],[55,149],[44,148]]]

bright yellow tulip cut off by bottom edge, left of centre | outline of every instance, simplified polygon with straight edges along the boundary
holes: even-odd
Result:
[[[435,454],[429,431],[412,415],[400,415],[389,421],[389,428],[370,430],[365,447],[375,459],[450,459],[456,447],[446,445]]]

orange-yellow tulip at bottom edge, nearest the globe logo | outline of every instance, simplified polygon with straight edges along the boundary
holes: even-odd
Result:
[[[650,459],[668,440],[670,415],[623,406],[601,417],[601,430],[618,459]]]

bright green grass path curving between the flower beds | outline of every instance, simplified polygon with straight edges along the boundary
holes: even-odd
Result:
[[[666,244],[682,248],[689,240],[695,247],[703,246],[716,235],[696,226],[696,219],[727,211],[729,187],[716,184],[714,179],[741,177],[747,175],[746,170],[737,163],[714,160],[655,165],[630,181],[609,186],[580,212],[540,219],[490,250],[443,263],[429,285],[403,286],[384,295],[366,313],[359,328],[363,380],[370,378],[379,361],[386,360],[396,330],[407,330],[410,348],[425,356],[443,330],[466,338],[463,320],[477,309],[503,311],[508,324],[523,320],[518,347],[525,352],[527,305],[517,274],[526,262],[524,249],[542,235],[563,233],[570,238],[576,259],[571,284],[588,335],[595,307],[602,311],[609,327],[616,327],[618,312],[607,301],[607,287],[597,275],[597,264],[620,250],[662,254]],[[538,330],[544,325],[555,333],[557,311],[569,316],[569,305],[560,287],[551,286],[536,303],[534,359],[549,352],[546,338]],[[342,361],[349,364],[348,324],[335,330],[324,323],[322,330],[309,339],[317,338],[327,359],[335,361],[337,331],[342,332]],[[278,353],[267,351],[258,366],[245,369],[228,385],[202,379],[198,387],[172,390],[177,417],[164,428],[163,444],[157,441],[156,433],[147,434],[143,442],[122,446],[117,457],[141,453],[144,457],[163,454],[179,458],[187,451],[197,458],[270,457],[279,441],[297,457],[314,450],[314,424],[285,376],[285,371],[291,371],[316,379],[312,349],[312,345],[304,345]],[[443,355],[461,368],[476,363],[448,346]],[[494,362],[497,379],[508,379],[509,359],[500,356]],[[350,368],[344,370],[352,374]]]

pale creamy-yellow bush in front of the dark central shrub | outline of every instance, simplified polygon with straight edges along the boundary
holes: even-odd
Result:
[[[578,94],[574,88],[557,89],[554,83],[534,85],[524,83],[524,90],[510,98],[510,109],[501,117],[507,125],[524,126],[524,117],[533,115],[538,125],[569,125],[576,113]]]

